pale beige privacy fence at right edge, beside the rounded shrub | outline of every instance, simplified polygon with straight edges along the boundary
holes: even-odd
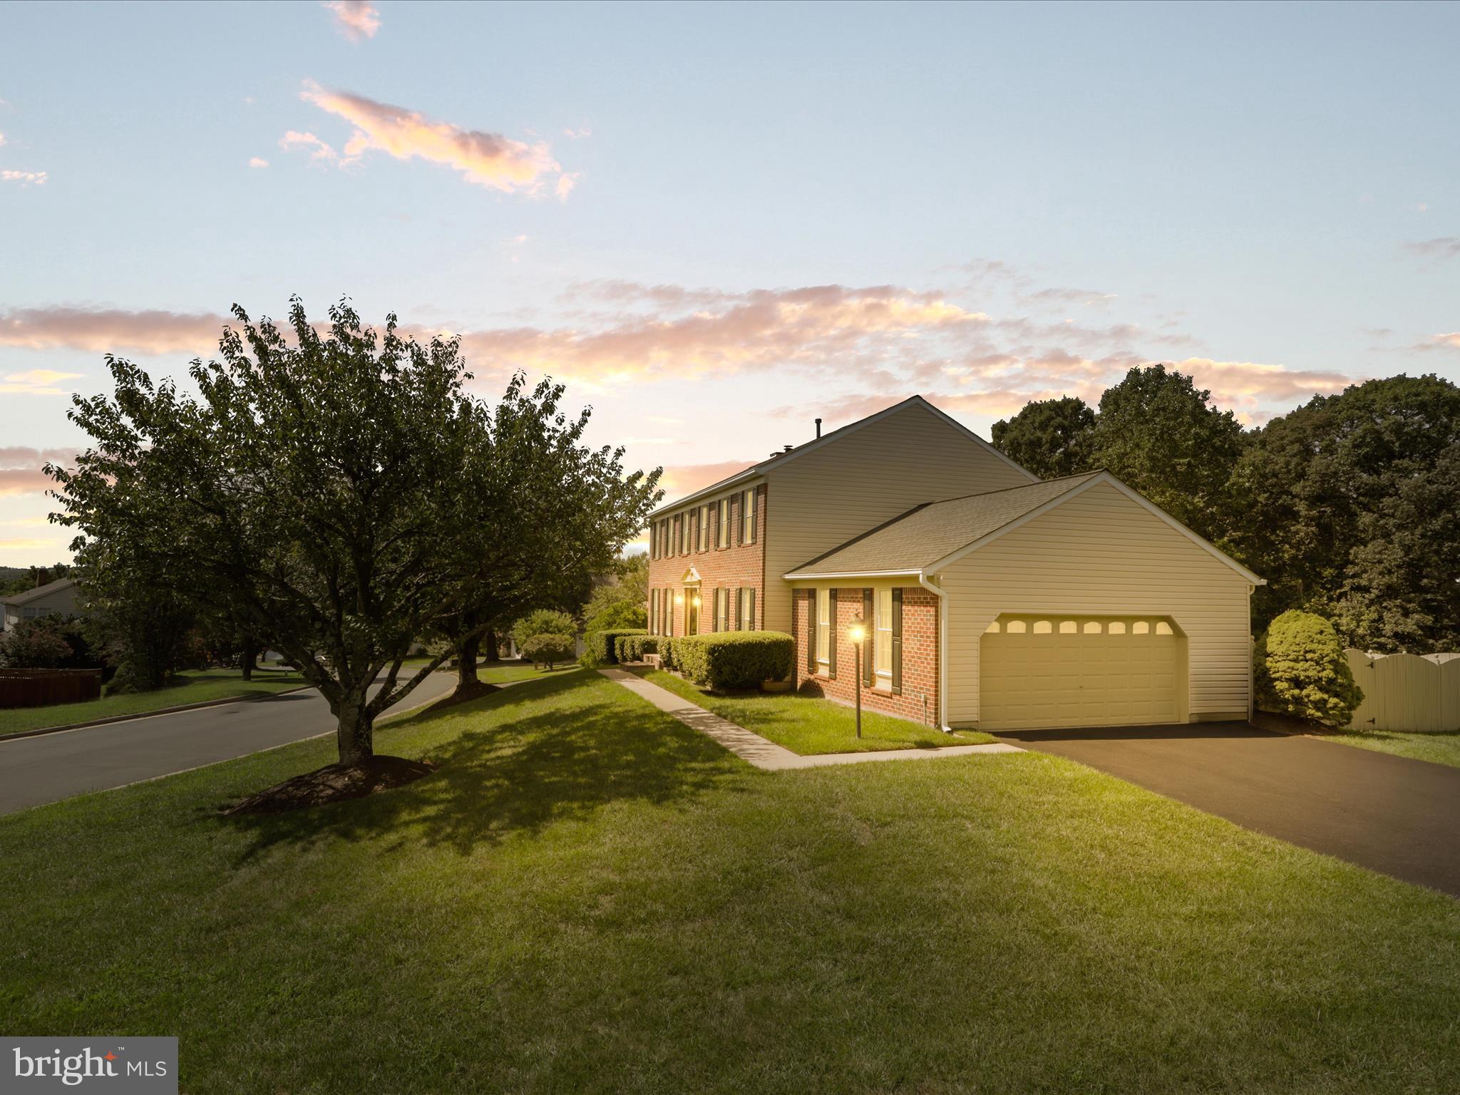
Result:
[[[1460,730],[1460,654],[1343,653],[1364,689],[1355,730]]]

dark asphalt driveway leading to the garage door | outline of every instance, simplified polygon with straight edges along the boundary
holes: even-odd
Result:
[[[1023,730],[1057,753],[1248,829],[1460,896],[1460,768],[1247,723]]]

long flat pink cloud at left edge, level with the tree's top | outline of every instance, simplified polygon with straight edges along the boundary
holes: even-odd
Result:
[[[0,346],[92,353],[200,353],[218,345],[222,315],[210,312],[123,311],[120,308],[15,308],[0,311]],[[77,374],[67,374],[77,375]]]

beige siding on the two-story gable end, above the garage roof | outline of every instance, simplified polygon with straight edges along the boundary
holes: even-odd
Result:
[[[787,571],[920,502],[1035,482],[918,404],[765,469],[765,606],[771,631],[791,629]]]

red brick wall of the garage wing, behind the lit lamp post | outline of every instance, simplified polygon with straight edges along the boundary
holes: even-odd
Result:
[[[807,651],[815,648],[815,590],[796,590],[791,602],[791,632],[796,637],[794,686],[815,696],[854,702],[857,654],[847,638],[851,620],[861,615],[863,590],[837,587],[832,635],[837,642],[835,676],[810,673]],[[899,694],[861,686],[861,705],[915,723],[937,726],[937,597],[921,585],[902,587],[902,688]],[[870,639],[869,639],[870,642]]]

